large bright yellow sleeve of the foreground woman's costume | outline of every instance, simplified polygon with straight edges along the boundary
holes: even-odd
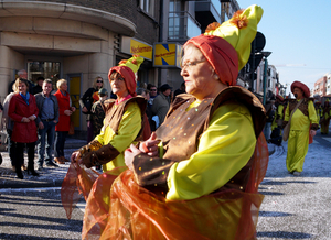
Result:
[[[224,186],[254,153],[256,137],[248,109],[221,106],[202,134],[197,151],[174,163],[168,175],[168,199],[194,199]]]

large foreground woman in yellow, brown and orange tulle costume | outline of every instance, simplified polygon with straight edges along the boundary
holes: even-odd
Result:
[[[113,184],[108,173],[95,182],[83,239],[254,239],[266,116],[235,85],[261,14],[252,6],[185,43],[189,95],[177,96],[156,134],[125,152],[128,171]]]

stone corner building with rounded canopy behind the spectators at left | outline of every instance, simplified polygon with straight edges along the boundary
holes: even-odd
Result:
[[[29,79],[39,76],[55,83],[65,78],[73,105],[103,77],[110,91],[108,70],[132,54],[145,57],[138,85],[158,83],[152,46],[159,39],[157,0],[56,0],[0,3],[0,83],[8,86],[20,69]],[[8,88],[0,89],[1,100]],[[77,130],[86,129],[85,116],[76,111]]]

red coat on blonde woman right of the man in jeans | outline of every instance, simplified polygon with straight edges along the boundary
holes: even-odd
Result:
[[[60,111],[58,123],[55,126],[55,131],[67,132],[71,126],[71,117],[64,114],[64,111],[71,110],[70,94],[66,91],[66,96],[64,96],[63,94],[61,94],[60,90],[57,90],[54,94],[54,96],[57,98],[58,111]]]

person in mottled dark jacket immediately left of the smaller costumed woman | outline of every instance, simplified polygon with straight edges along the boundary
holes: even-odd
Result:
[[[105,119],[105,100],[108,99],[108,91],[106,88],[100,88],[98,91],[99,100],[92,106],[92,122],[93,122],[93,138],[100,133]]]

